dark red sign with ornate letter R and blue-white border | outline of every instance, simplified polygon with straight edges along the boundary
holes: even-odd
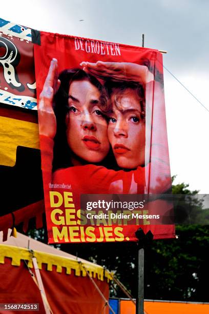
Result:
[[[37,110],[31,29],[2,18],[0,103]]]

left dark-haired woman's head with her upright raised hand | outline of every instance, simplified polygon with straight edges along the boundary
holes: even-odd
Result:
[[[39,103],[40,134],[54,139],[53,169],[99,164],[110,149],[105,90],[81,69],[62,71],[56,90],[56,70],[57,61],[52,60]]]

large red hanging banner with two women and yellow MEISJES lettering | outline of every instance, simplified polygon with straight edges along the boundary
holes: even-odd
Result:
[[[34,58],[49,243],[175,238],[145,204],[171,191],[161,53],[40,32]]]

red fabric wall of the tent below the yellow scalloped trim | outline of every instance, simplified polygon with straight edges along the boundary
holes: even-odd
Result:
[[[48,271],[46,265],[43,265],[40,274],[54,314],[100,314],[102,312],[104,301],[89,277],[75,276],[73,271],[71,274],[66,274],[64,268],[62,268],[62,273],[58,273],[55,266],[52,271]],[[94,281],[108,300],[108,283],[98,279]],[[0,264],[0,282],[0,303],[39,303],[39,312],[45,313],[40,292],[24,261],[21,261],[20,266],[12,266],[11,259],[5,258],[5,264]],[[18,313],[21,312],[18,311]],[[23,313],[27,312],[29,311],[23,311]],[[0,311],[0,313],[5,312]],[[7,311],[7,313],[12,313],[12,311]],[[109,313],[108,308],[104,313]]]

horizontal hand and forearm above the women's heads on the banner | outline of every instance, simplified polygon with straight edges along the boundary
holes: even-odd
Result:
[[[148,67],[129,62],[81,62],[80,65],[86,72],[103,80],[111,78],[112,81],[134,81],[141,84],[154,80]]]

